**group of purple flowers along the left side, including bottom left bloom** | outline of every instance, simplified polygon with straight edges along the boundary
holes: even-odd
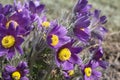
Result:
[[[0,4],[0,57],[11,60],[16,51],[24,53],[21,44],[24,38],[32,31],[33,24],[38,22],[38,15],[44,10],[45,5],[29,1],[24,5],[14,1],[14,5]],[[4,80],[29,80],[27,63],[21,61],[17,67],[7,65],[2,73]]]

